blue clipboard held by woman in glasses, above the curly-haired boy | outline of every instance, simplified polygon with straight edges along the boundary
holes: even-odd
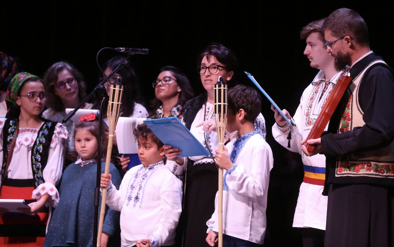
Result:
[[[201,145],[177,117],[148,119],[144,123],[164,143],[180,151],[177,158],[209,155],[208,150]]]

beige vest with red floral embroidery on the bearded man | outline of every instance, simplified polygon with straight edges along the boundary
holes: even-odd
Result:
[[[359,89],[362,77],[366,71],[383,60],[372,61],[349,85],[346,94],[349,100],[340,119],[338,133],[353,130],[357,126],[363,126],[365,122],[362,117],[364,112],[359,104]],[[394,143],[377,150],[354,152],[352,154],[339,156],[336,160],[335,177],[343,176],[367,176],[375,178],[394,178]]]

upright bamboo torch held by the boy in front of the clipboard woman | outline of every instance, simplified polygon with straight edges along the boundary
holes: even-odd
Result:
[[[224,150],[224,135],[227,125],[227,85],[224,84],[223,78],[219,76],[217,83],[214,85],[215,100],[215,123],[217,138],[219,141],[219,150]],[[219,219],[219,247],[223,246],[223,169],[219,167],[218,180],[219,201],[217,204],[217,216]]]

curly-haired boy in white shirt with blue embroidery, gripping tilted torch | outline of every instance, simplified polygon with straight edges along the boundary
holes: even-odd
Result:
[[[119,190],[101,175],[107,205],[121,212],[122,247],[173,246],[182,211],[182,183],[163,163],[163,143],[145,125],[134,130],[141,165],[125,174]]]

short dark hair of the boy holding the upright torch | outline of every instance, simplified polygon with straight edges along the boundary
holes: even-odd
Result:
[[[236,85],[227,93],[229,108],[236,114],[240,109],[246,113],[245,119],[254,122],[261,112],[261,97],[257,91],[244,85]]]

